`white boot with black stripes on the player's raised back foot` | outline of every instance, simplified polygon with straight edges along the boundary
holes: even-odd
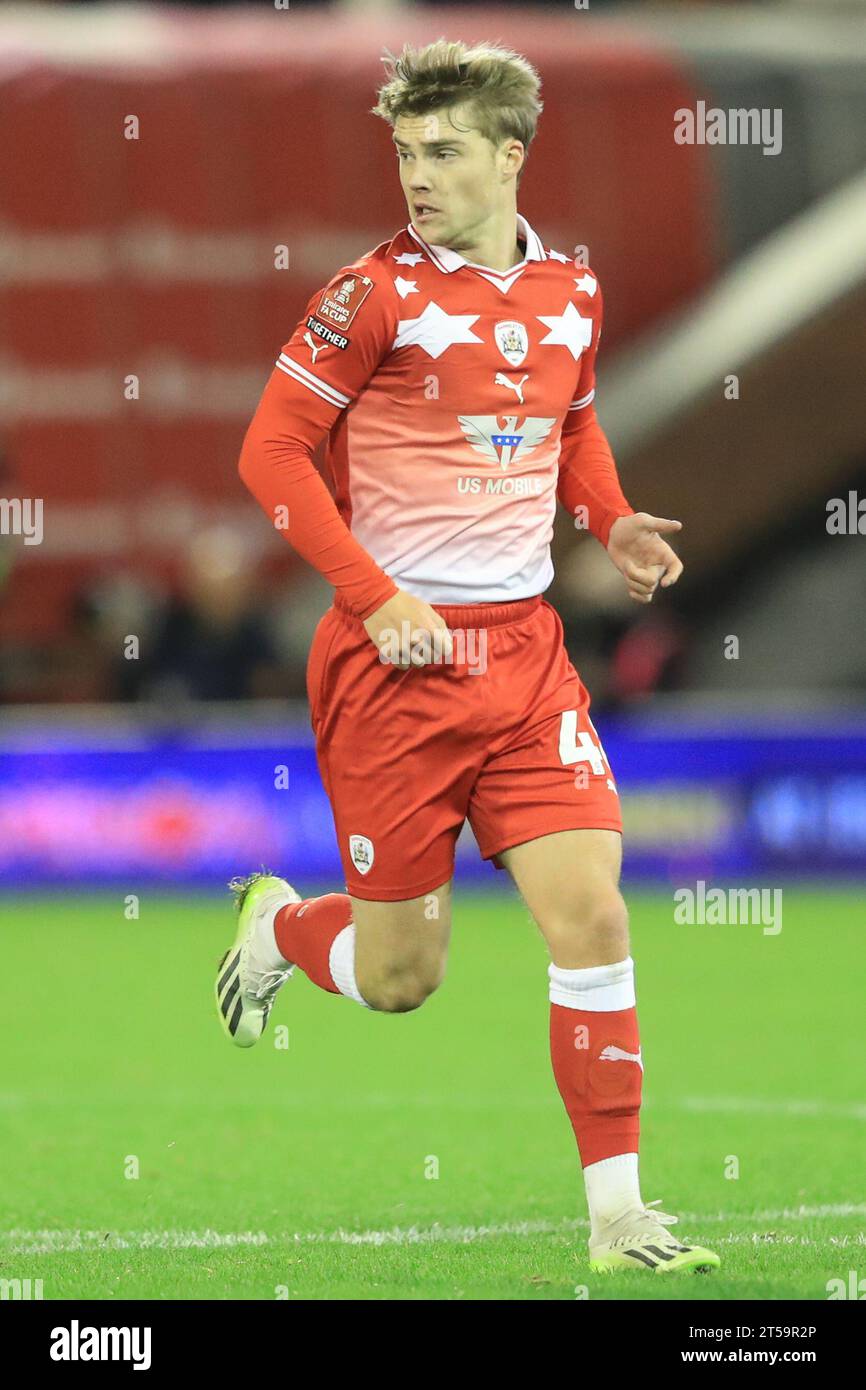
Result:
[[[217,969],[217,1013],[235,1047],[253,1047],[264,1033],[277,991],[295,969],[281,963],[274,917],[279,908],[302,898],[285,878],[264,872],[232,878],[229,888],[235,894],[238,934]]]

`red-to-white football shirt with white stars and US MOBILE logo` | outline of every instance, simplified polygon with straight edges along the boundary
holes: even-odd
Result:
[[[395,588],[430,603],[544,592],[556,496],[607,541],[631,513],[595,420],[602,295],[518,217],[507,271],[410,224],[310,299],[240,474],[359,616]],[[328,435],[336,506],[311,463]]]

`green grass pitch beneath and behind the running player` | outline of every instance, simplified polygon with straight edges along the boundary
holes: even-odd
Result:
[[[228,894],[145,892],[126,920],[118,891],[0,905],[0,1277],[46,1300],[827,1298],[866,1266],[862,898],[785,888],[765,935],[626,895],[644,1200],[720,1270],[589,1273],[546,952],[507,890],[457,894],[416,1013],[297,973],[247,1052],[213,1013]]]

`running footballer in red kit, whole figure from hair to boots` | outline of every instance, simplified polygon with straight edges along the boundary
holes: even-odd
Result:
[[[409,222],[342,265],[282,348],[243,482],[334,585],[307,663],[346,892],[235,880],[215,984],[238,1047],[303,970],[366,1009],[445,974],[468,819],[550,954],[550,1056],[580,1152],[596,1272],[706,1270],[638,1179],[644,1065],[621,819],[589,696],[544,598],[556,500],[649,603],[678,521],[635,513],[594,410],[602,291],[517,211],[542,110],[521,56],[439,39],[386,54]],[[313,463],[327,439],[334,498]]]

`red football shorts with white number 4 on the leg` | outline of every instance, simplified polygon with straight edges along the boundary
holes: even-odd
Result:
[[[556,610],[542,598],[434,607],[452,631],[450,663],[384,663],[339,600],[310,648],[316,752],[346,887],[373,902],[446,883],[466,819],[485,859],[557,830],[623,828]]]

